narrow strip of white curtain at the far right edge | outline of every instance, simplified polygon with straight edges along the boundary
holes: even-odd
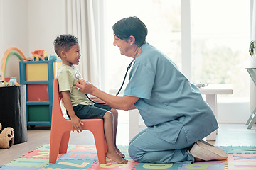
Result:
[[[251,0],[251,40],[256,40],[256,0]],[[256,68],[256,55],[251,59],[251,67]],[[252,112],[256,106],[256,87],[250,81],[250,111]]]

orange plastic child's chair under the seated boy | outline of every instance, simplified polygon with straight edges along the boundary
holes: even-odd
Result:
[[[81,119],[82,130],[90,130],[95,138],[97,157],[100,164],[106,164],[105,135],[102,119]],[[63,117],[60,107],[60,96],[58,79],[53,81],[53,112],[50,130],[50,157],[49,163],[56,163],[58,154],[67,153],[70,132],[72,130],[71,120]]]

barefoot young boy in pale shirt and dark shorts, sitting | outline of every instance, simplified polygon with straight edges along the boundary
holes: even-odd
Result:
[[[57,79],[65,108],[72,122],[73,131],[82,132],[80,119],[102,118],[107,142],[107,157],[119,164],[127,163],[127,160],[123,159],[124,154],[116,146],[117,110],[92,103],[85,94],[75,88],[78,81],[76,77],[80,73],[73,64],[78,65],[81,57],[77,38],[73,35],[60,35],[54,41],[54,49],[62,60],[62,65],[58,67]]]

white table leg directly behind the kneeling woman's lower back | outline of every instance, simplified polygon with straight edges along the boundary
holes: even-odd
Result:
[[[210,106],[213,110],[215,118],[218,120],[218,113],[217,113],[217,94],[206,94],[206,103]],[[212,132],[210,135],[206,137],[206,140],[216,140],[217,130]]]

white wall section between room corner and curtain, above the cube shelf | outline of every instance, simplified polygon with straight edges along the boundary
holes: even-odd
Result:
[[[65,1],[28,0],[28,50],[55,54],[53,41],[66,33]]]

